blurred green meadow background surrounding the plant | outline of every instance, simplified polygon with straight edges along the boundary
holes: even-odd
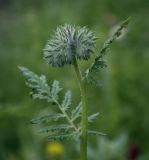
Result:
[[[89,113],[100,112],[90,127],[107,133],[89,139],[89,159],[149,159],[148,9],[148,0],[0,0],[0,160],[78,159],[74,142],[52,155],[47,149],[52,144],[29,123],[55,107],[32,101],[17,66],[45,74],[49,82],[58,79],[73,91],[76,104],[80,97],[72,69],[53,69],[43,60],[47,39],[58,25],[85,25],[99,37],[100,48],[127,17],[128,33],[113,44],[109,65],[99,74],[102,86],[88,87]],[[83,70],[89,63],[80,62]]]

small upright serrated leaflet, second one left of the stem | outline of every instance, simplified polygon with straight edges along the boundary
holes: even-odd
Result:
[[[71,91],[67,91],[64,96],[64,100],[62,102],[62,107],[64,110],[67,110],[71,105]]]

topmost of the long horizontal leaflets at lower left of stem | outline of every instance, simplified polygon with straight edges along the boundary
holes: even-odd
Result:
[[[32,119],[31,123],[32,124],[41,124],[41,123],[44,123],[44,122],[50,122],[52,120],[57,121],[58,119],[64,118],[64,117],[65,116],[63,114],[60,114],[60,113],[48,114],[48,115],[45,115],[45,116],[41,116],[41,117]]]

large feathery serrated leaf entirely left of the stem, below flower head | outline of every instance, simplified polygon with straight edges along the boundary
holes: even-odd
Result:
[[[78,132],[77,126],[73,123],[73,120],[71,117],[67,114],[66,109],[71,105],[71,92],[67,91],[64,96],[64,100],[62,104],[58,101],[59,98],[59,92],[62,90],[59,86],[58,81],[54,81],[52,86],[50,87],[47,84],[46,77],[44,75],[38,76],[34,72],[30,71],[29,69],[25,67],[19,67],[21,72],[23,73],[23,76],[27,79],[26,84],[32,88],[32,92],[30,93],[31,96],[34,99],[46,99],[48,102],[52,102],[52,104],[56,104],[59,108],[59,111],[61,113],[55,113],[55,114],[48,114],[41,116],[39,118],[35,118],[31,120],[32,124],[41,124],[44,123],[44,125],[51,121],[57,121],[60,118],[65,118],[68,125],[55,125],[44,128],[41,132],[49,132],[54,133],[58,135],[50,135],[50,138],[55,137],[58,139],[62,139],[64,137],[70,137],[70,135],[74,135],[73,133],[69,133],[70,131]],[[79,107],[75,109],[74,112],[74,118],[76,119],[78,117],[78,114],[80,113]],[[63,135],[61,135],[63,133]],[[66,135],[66,133],[69,133]]]

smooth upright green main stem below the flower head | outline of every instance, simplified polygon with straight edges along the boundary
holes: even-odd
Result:
[[[82,100],[82,132],[81,132],[81,144],[80,144],[80,160],[87,160],[87,106],[86,106],[86,94],[85,83],[82,78],[76,58],[73,61],[73,66],[77,79],[79,82],[81,100]]]

